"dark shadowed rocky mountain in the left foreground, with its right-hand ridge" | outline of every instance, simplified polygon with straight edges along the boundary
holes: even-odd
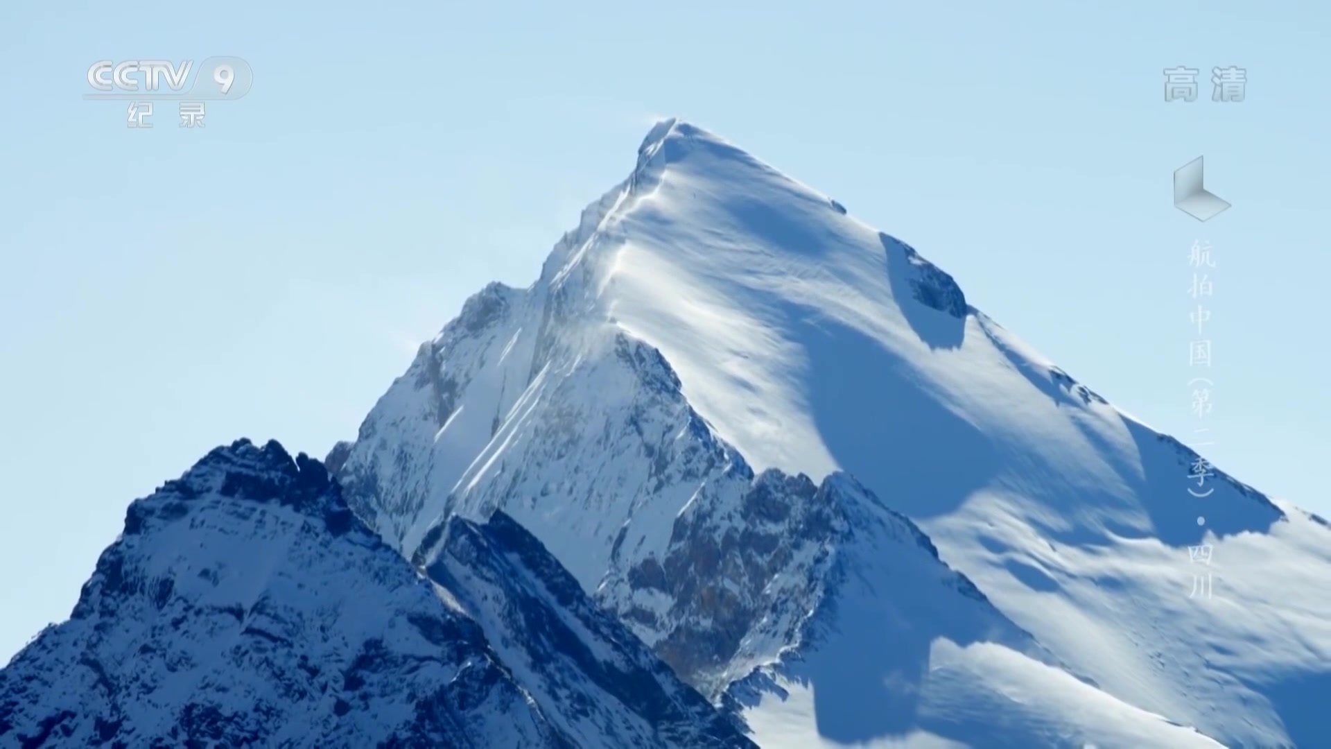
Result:
[[[71,620],[0,670],[0,746],[751,745],[677,681],[607,688],[548,654],[534,684],[596,701],[610,729],[570,736],[575,718],[551,713],[564,705],[534,698],[532,674],[515,677],[447,600],[361,525],[318,461],[242,440],[130,505]],[[543,608],[552,598],[487,604],[564,616]],[[539,645],[504,649],[530,661]],[[627,706],[660,693],[693,709]],[[663,713],[684,741],[624,741],[622,726]]]

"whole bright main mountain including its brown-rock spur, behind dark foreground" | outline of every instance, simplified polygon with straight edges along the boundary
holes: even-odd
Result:
[[[337,453],[409,557],[503,508],[763,746],[1331,746],[1326,522],[1190,497],[1197,454],[687,123]]]

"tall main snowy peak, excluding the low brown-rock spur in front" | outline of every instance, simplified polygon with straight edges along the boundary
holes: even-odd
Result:
[[[677,668],[685,622],[648,580],[681,510],[735,506],[768,468],[845,470],[1106,700],[1229,745],[1331,744],[1324,524],[1214,469],[1198,488],[1198,456],[912,248],[684,123],[648,133],[532,287],[470,300],[342,453],[353,506],[405,554],[449,512],[502,506]],[[760,573],[816,580],[803,564]],[[1206,572],[1214,597],[1190,600]],[[1008,662],[985,652],[968,662]],[[705,688],[737,653],[683,673]]]

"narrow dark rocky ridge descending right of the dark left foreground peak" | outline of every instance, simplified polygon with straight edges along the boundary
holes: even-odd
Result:
[[[486,524],[454,516],[430,534],[422,561],[535,700],[558,706],[547,714],[575,745],[753,746],[507,514]]]

